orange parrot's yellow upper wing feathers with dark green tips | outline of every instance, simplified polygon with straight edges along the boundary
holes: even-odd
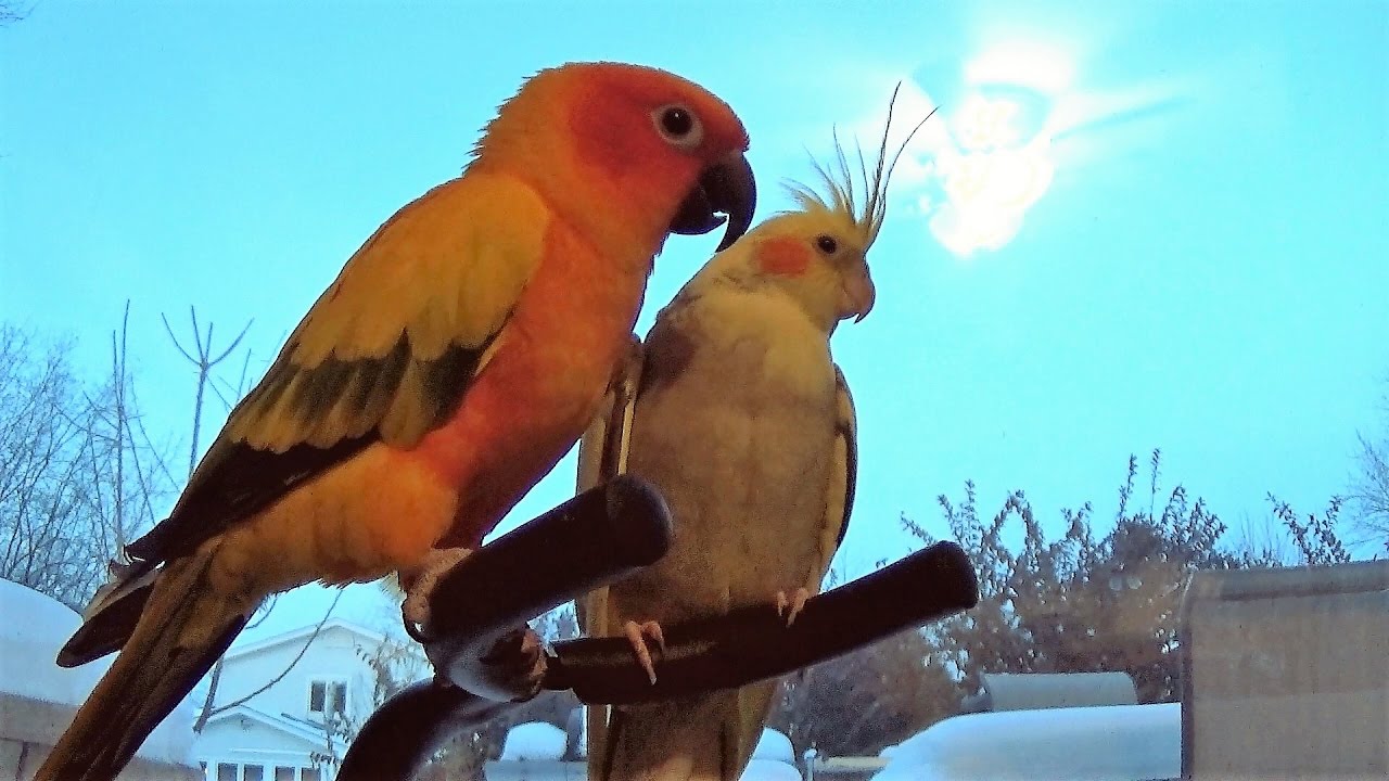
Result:
[[[226,436],[279,453],[375,428],[414,445],[481,368],[540,261],[546,231],[536,227],[547,224],[535,192],[499,175],[475,172],[410,203],[314,303]]]

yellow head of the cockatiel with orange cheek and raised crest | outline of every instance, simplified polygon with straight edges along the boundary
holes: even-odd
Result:
[[[893,90],[893,101],[896,97]],[[826,334],[850,317],[854,322],[861,321],[872,310],[876,296],[868,272],[868,249],[878,239],[888,214],[888,181],[907,143],[929,118],[931,114],[918,122],[896,154],[889,157],[889,103],[876,161],[870,170],[860,150],[857,176],[836,135],[835,170],[815,164],[825,195],[790,183],[788,189],[800,208],[764,221],[732,249],[717,254],[706,271],[742,286],[772,288],[789,296]],[[856,193],[860,185],[863,204]]]

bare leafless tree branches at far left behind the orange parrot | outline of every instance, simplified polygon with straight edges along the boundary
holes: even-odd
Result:
[[[79,609],[168,491],[126,370],[88,386],[71,345],[0,327],[0,577]]]

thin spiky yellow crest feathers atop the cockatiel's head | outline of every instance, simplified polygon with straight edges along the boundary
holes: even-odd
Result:
[[[856,176],[849,165],[849,158],[845,154],[843,145],[839,143],[839,132],[835,131],[835,158],[836,167],[833,171],[826,170],[820,164],[818,160],[813,160],[815,165],[815,172],[820,174],[828,197],[821,196],[814,189],[801,185],[799,182],[790,182],[788,189],[790,196],[796,199],[806,211],[829,211],[842,215],[847,220],[857,231],[860,240],[863,242],[864,252],[872,246],[874,240],[878,239],[878,231],[882,229],[882,222],[888,217],[888,182],[892,178],[892,170],[896,168],[897,160],[901,153],[906,151],[907,145],[911,142],[917,131],[926,124],[936,110],[932,108],[931,114],[926,114],[924,120],[917,122],[917,126],[907,133],[907,138],[901,140],[897,151],[888,157],[888,133],[892,131],[892,108],[897,101],[897,92],[901,89],[901,82],[892,90],[892,99],[888,101],[888,121],[882,129],[882,142],[878,145],[878,158],[874,163],[872,171],[868,170],[868,163],[864,160],[863,147],[857,143],[854,145],[858,153],[858,182],[863,185],[864,203],[860,211],[860,204],[857,203],[856,190]]]

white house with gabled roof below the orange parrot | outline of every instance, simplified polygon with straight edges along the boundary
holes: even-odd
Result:
[[[213,716],[193,743],[208,781],[331,781],[346,737],[379,705],[368,660],[389,660],[397,681],[428,670],[413,643],[340,618],[317,636],[315,627],[226,652]]]

